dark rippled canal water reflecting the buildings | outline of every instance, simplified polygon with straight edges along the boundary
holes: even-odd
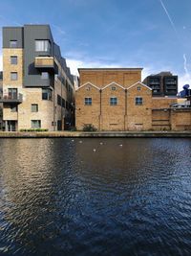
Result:
[[[191,140],[1,139],[0,255],[191,255]]]

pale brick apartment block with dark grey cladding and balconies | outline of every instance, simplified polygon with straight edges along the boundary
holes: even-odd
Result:
[[[49,25],[3,28],[6,130],[74,125],[74,80]]]

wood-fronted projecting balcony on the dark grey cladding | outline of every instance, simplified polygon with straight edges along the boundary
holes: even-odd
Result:
[[[53,57],[35,57],[34,67],[42,70],[53,71],[58,73],[58,67]]]

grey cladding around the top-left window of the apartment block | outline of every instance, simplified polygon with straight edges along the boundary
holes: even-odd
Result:
[[[16,48],[24,47],[23,28],[22,27],[4,27],[3,28],[3,48],[10,48],[10,41],[17,40]]]

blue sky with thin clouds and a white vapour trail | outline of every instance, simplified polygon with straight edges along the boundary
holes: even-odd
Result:
[[[80,67],[142,67],[191,85],[191,0],[0,0],[0,26],[50,24],[74,75]],[[2,30],[0,34],[2,70]]]

